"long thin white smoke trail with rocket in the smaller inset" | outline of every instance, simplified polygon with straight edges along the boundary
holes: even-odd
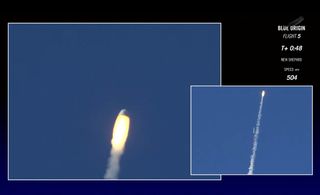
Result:
[[[258,118],[257,118],[257,123],[256,123],[255,130],[254,130],[252,154],[251,154],[251,157],[250,157],[250,166],[249,166],[248,175],[252,175],[253,174],[253,170],[254,170],[254,163],[255,163],[255,160],[256,160],[256,152],[257,152],[257,147],[258,147],[258,138],[259,138],[259,130],[260,130],[260,121],[261,121],[261,117],[262,117],[261,113],[262,113],[263,97],[264,96],[265,96],[265,91],[263,90],[261,92],[261,100],[260,100]]]

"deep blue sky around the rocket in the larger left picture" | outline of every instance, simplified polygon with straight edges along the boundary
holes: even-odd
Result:
[[[219,84],[219,25],[11,24],[10,178],[190,178],[189,85]]]

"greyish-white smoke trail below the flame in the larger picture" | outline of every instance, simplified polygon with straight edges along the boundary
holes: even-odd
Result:
[[[118,173],[120,170],[120,158],[122,154],[123,154],[123,151],[117,151],[113,148],[111,149],[108,167],[104,175],[105,179],[118,178]]]

